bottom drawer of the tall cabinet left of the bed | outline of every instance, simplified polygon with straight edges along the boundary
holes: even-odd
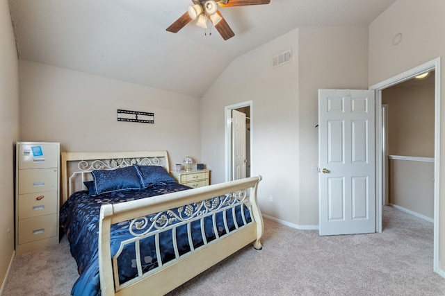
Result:
[[[19,244],[56,236],[57,214],[19,220]]]

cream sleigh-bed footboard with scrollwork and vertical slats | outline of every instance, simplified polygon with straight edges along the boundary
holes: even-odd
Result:
[[[257,206],[257,186],[261,176],[250,177],[223,184],[215,184],[197,189],[159,195],[143,200],[122,204],[106,204],[101,208],[99,221],[99,272],[102,295],[163,295],[195,277],[200,272],[233,254],[248,243],[261,249],[260,238],[263,221]],[[236,207],[241,207],[243,223],[238,225]],[[177,210],[173,210],[176,209]],[[250,222],[243,209],[250,210]],[[227,210],[228,209],[228,210]],[[218,234],[216,215],[223,215],[223,234]],[[232,215],[234,229],[230,230],[227,219]],[[148,216],[148,217],[147,217]],[[211,218],[215,239],[207,241],[204,233],[204,218]],[[118,253],[111,258],[111,225],[130,221],[129,232],[132,237],[120,245]],[[194,247],[191,225],[199,221],[203,245]],[[176,229],[186,225],[190,252],[179,254]],[[171,231],[175,258],[163,262],[159,234]],[[143,272],[140,260],[140,241],[154,236],[157,267]],[[125,245],[134,244],[138,275],[120,284],[118,257]],[[187,267],[187,268],[186,268]],[[186,271],[185,271],[186,270]],[[149,290],[147,290],[149,289]]]

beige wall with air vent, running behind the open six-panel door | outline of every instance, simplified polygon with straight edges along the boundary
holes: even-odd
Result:
[[[271,69],[271,57],[290,48],[293,62]],[[299,28],[234,60],[202,98],[202,159],[213,177],[225,180],[224,107],[252,100],[261,211],[316,227],[318,89],[367,88],[367,49],[367,28]]]

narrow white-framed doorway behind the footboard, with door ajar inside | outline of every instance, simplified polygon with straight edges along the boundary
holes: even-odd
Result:
[[[226,182],[251,175],[252,107],[252,101],[225,107]]]

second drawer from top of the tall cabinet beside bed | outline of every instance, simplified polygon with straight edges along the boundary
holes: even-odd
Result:
[[[19,194],[55,191],[58,189],[57,168],[19,170]]]

